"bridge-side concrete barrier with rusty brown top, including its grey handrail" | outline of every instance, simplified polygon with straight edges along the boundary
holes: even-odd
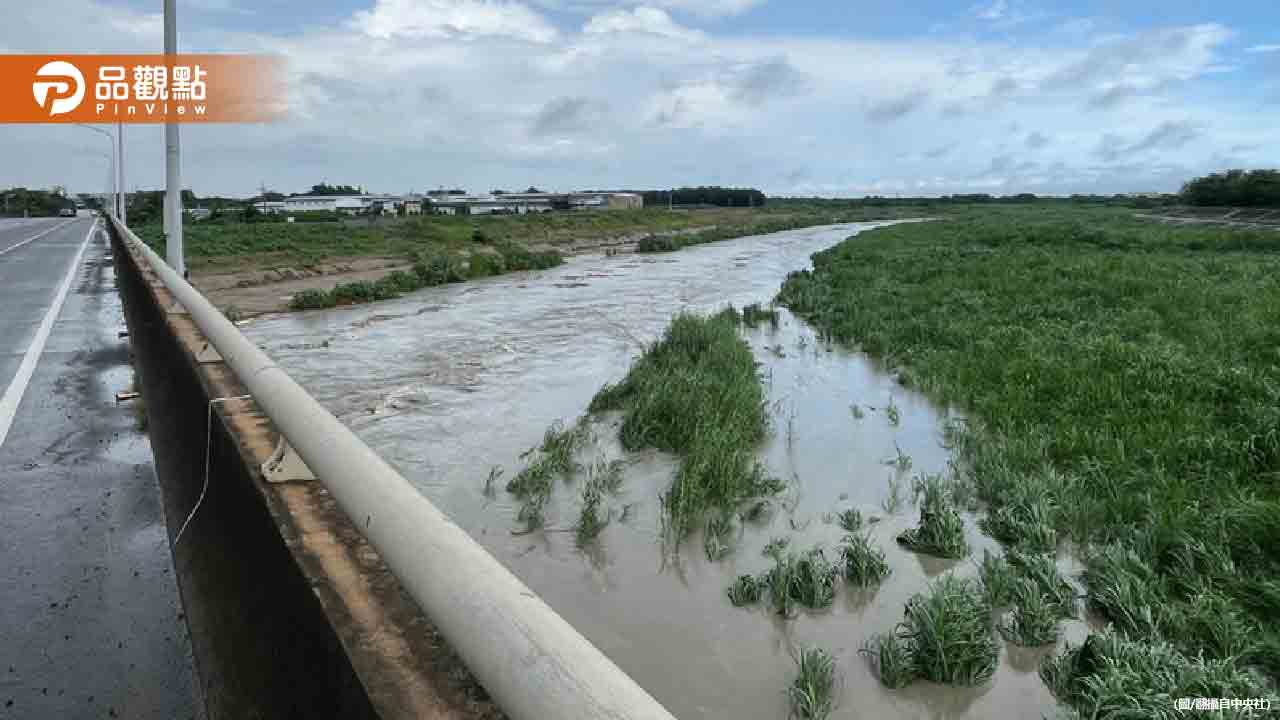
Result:
[[[671,717],[111,225],[211,717]],[[264,482],[282,434],[319,482]]]

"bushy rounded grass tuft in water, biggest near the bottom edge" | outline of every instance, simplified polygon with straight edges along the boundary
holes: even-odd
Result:
[[[863,648],[886,687],[916,679],[950,685],[978,685],[996,671],[991,606],[980,588],[943,575],[906,603],[906,616],[890,634]]]

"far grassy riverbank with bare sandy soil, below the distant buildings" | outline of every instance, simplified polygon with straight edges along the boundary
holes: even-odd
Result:
[[[445,282],[554,266],[581,254],[626,254],[653,237],[705,242],[902,211],[805,205],[646,209],[383,218],[374,224],[195,223],[184,232],[192,283],[230,315],[253,316],[385,300]],[[159,225],[136,232],[161,251]],[[417,272],[419,265],[429,272]]]

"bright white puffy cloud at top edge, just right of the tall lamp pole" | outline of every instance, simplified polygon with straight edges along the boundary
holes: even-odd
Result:
[[[378,0],[352,24],[372,37],[506,36],[556,40],[556,28],[520,3],[507,0]]]

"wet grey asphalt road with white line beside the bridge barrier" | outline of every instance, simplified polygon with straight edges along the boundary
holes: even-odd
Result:
[[[0,220],[0,719],[204,717],[123,328],[93,219]]]

